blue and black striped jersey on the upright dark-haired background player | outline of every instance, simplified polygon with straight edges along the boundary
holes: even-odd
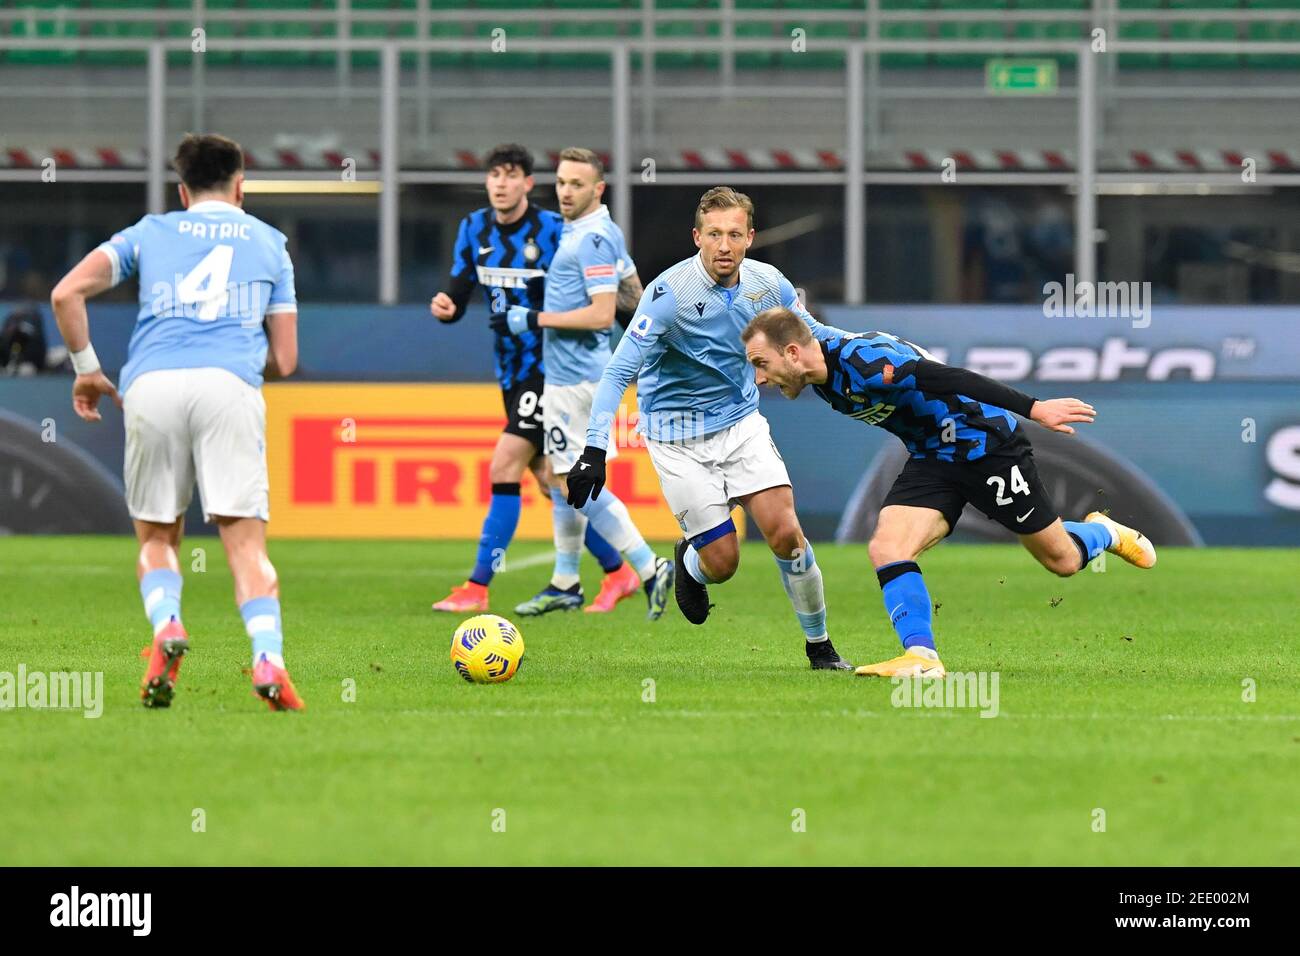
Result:
[[[451,259],[451,298],[458,312],[474,285],[482,286],[488,308],[504,312],[511,306],[542,307],[546,269],[555,256],[564,219],[532,203],[515,222],[502,225],[491,207],[474,209],[456,230]],[[503,389],[538,375],[542,333],[498,334],[494,343],[497,380]]]

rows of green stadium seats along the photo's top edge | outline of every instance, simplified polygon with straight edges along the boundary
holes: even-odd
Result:
[[[334,38],[344,20],[337,0],[207,0],[204,26],[211,43],[208,62],[212,66],[334,66],[335,55],[324,52],[244,51],[221,52],[220,40],[239,39],[304,39]],[[656,0],[654,34],[659,38],[714,38],[723,31],[720,0]],[[0,0],[0,12],[26,16],[0,21],[0,31],[14,38],[178,38],[190,33],[192,9],[190,0]],[[452,10],[500,13],[515,39],[636,39],[642,35],[642,4],[638,0],[426,0],[433,13]],[[884,39],[1076,39],[1084,35],[1091,20],[1088,0],[880,0],[879,9],[888,16],[914,14],[906,20],[884,20]],[[1300,39],[1300,0],[1118,0],[1118,12],[1149,12],[1150,20],[1121,20],[1118,35],[1130,40],[1295,40]],[[155,10],[155,18],[142,12]],[[790,30],[806,30],[809,51],[793,52],[742,51],[736,57],[740,70],[772,68],[838,69],[844,55],[833,49],[818,51],[818,40],[862,39],[870,33],[863,0],[734,0],[740,17],[734,22],[737,39],[788,38]],[[1240,18],[1223,17],[1238,12]],[[1244,14],[1275,14],[1257,20]],[[1294,16],[1288,17],[1288,12]],[[675,18],[677,13],[681,18]],[[972,18],[966,14],[987,13]],[[1060,20],[1043,14],[1057,13]],[[1213,18],[1204,14],[1213,13]],[[73,14],[73,16],[70,16]],[[599,16],[593,16],[599,14]],[[667,14],[667,16],[666,16]],[[815,14],[807,22],[801,14]],[[1018,17],[1017,14],[1026,14]],[[1102,12],[1105,18],[1106,13]],[[421,20],[417,0],[351,0],[346,20],[348,35],[355,39],[416,39]],[[494,25],[486,21],[456,22],[432,20],[428,38],[477,38],[486,40]],[[484,66],[489,52],[436,52],[430,65]],[[138,65],[138,51],[10,49],[0,52],[0,61],[9,64],[57,65]],[[1072,62],[1071,55],[1058,55],[1062,65]],[[173,53],[179,65],[185,53]],[[887,53],[881,65],[889,69],[971,69],[983,64],[984,56],[963,52]],[[407,57],[411,62],[411,57]],[[514,56],[510,68],[549,66],[588,69],[607,66],[601,53],[533,53]],[[374,69],[378,55],[358,51],[350,55],[356,69]],[[491,65],[499,65],[497,60]],[[655,68],[664,70],[712,69],[719,55],[712,52],[664,51],[655,55]],[[1300,69],[1300,55],[1291,53],[1124,53],[1124,69],[1225,70],[1240,68]]]

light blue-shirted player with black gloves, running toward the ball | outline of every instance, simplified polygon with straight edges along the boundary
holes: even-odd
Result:
[[[790,479],[758,411],[758,388],[740,332],[760,310],[797,310],[819,325],[776,268],[745,259],[754,241],[754,206],[718,186],[696,208],[699,252],[660,274],[637,307],[601,377],[569,502],[599,501],[606,445],[623,392],[637,377],[641,429],[663,497],[685,535],[676,546],[677,606],[693,624],[708,617],[708,584],[740,563],[731,511],[742,505],[776,557],[781,584],[803,630],[815,670],[849,670],[826,627],[822,570],[794,514]],[[638,375],[640,373],[640,375]]]

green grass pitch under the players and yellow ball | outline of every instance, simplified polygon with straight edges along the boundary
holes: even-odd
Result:
[[[308,710],[272,714],[220,544],[187,540],[186,566],[192,548],[192,652],[150,711],[134,542],[0,541],[0,671],[103,671],[107,698],[99,719],[0,711],[0,865],[1279,865],[1300,845],[1295,551],[1060,580],[1015,548],[936,549],[945,663],[1000,675],[982,718],[810,672],[760,545],[703,627],[676,607],[647,624],[640,597],[516,618],[519,675],[476,687],[447,659],[456,620],[429,610],[468,544],[296,541],[272,558]],[[866,549],[816,553],[837,648],[892,657]],[[549,570],[540,544],[511,557],[507,617]]]

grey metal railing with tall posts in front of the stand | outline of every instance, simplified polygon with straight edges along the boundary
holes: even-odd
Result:
[[[946,14],[945,14],[946,16]],[[736,52],[767,51],[779,52],[788,49],[784,43],[772,40],[734,40]],[[222,40],[220,44],[208,46],[208,52],[220,48],[221,51],[306,51],[306,52],[333,52],[335,55],[369,51],[380,55],[380,170],[376,177],[380,183],[378,208],[378,252],[380,252],[380,281],[378,298],[384,303],[395,302],[398,298],[398,228],[400,221],[400,186],[404,183],[452,183],[477,182],[481,173],[456,173],[438,170],[403,170],[399,163],[399,103],[400,103],[400,55],[402,53],[434,53],[434,52],[464,52],[464,40],[367,40],[367,39],[274,39],[274,40]],[[845,300],[861,303],[866,297],[866,222],[867,204],[866,187],[876,183],[928,183],[937,185],[940,176],[937,172],[870,172],[867,169],[866,140],[870,129],[867,94],[871,88],[867,78],[867,61],[878,59],[881,53],[936,53],[936,52],[962,52],[997,55],[1014,48],[1018,53],[1072,53],[1078,57],[1078,77],[1074,88],[1076,109],[1076,137],[1074,142],[1078,156],[1076,168],[1072,172],[1031,173],[1031,172],[1005,172],[1005,173],[962,173],[963,185],[1061,185],[1071,187],[1075,195],[1075,265],[1076,281],[1092,281],[1096,273],[1096,195],[1098,183],[1149,183],[1160,181],[1173,181],[1176,176],[1158,173],[1109,173],[1097,172],[1097,117],[1098,117],[1098,69],[1097,56],[1092,52],[1087,40],[1082,42],[1053,42],[1030,40],[1014,44],[1001,40],[853,40],[853,42],[823,42],[822,49],[841,51],[846,56],[846,69],[844,86],[841,87],[844,99],[844,129],[845,152],[844,165],[840,170],[823,172],[785,172],[785,173],[690,173],[690,172],[660,172],[655,177],[655,183],[686,185],[702,183],[714,185],[719,181],[728,181],[741,185],[744,182],[770,182],[789,185],[840,185],[844,189],[844,276]],[[1239,53],[1248,49],[1252,53],[1300,53],[1300,42],[1136,42],[1136,40],[1110,40],[1106,44],[1108,56],[1126,52],[1134,53]],[[147,183],[147,203],[150,212],[165,209],[165,183],[168,182],[166,169],[166,129],[165,129],[165,101],[166,101],[166,53],[170,51],[188,51],[190,43],[185,39],[177,40],[124,40],[124,39],[81,39],[81,40],[35,40],[35,39],[0,39],[0,49],[61,49],[61,51],[147,51],[147,170],[144,181]],[[699,40],[670,40],[654,38],[651,40],[515,40],[511,43],[514,52],[602,52],[610,56],[610,156],[611,164],[608,178],[612,181],[612,199],[616,215],[623,229],[632,234],[632,190],[646,187],[647,183],[638,182],[638,164],[632,153],[630,117],[632,117],[632,78],[630,62],[633,52],[714,52],[716,47]],[[195,57],[202,59],[202,57]],[[339,56],[346,60],[346,56]],[[421,61],[425,57],[420,57]],[[647,57],[649,60],[649,57]],[[645,62],[642,65],[645,66]],[[0,126],[3,127],[3,126]],[[774,137],[780,137],[780,131],[774,131]],[[1060,146],[1060,144],[1054,144]],[[302,178],[329,178],[337,173],[299,173]],[[0,181],[39,181],[40,170],[3,170]],[[82,179],[98,181],[138,181],[138,176],[126,172],[108,172],[103,176],[83,176]],[[359,178],[365,178],[364,173]],[[540,176],[541,181],[547,177]],[[1187,177],[1183,177],[1186,181]],[[1240,185],[1240,177],[1230,173],[1210,174],[1196,173],[1195,182]],[[1256,179],[1266,186],[1296,186],[1300,185],[1300,174],[1280,174],[1261,170]]]

